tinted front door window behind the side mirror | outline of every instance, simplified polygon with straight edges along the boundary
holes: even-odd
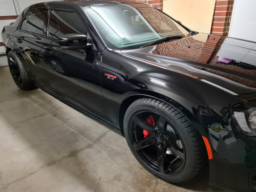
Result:
[[[52,8],[49,20],[49,36],[58,38],[64,34],[87,34],[80,17],[71,9]]]

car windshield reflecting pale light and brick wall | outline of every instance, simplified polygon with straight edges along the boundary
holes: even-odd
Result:
[[[186,36],[187,30],[146,4],[108,4],[83,7],[106,46],[136,49],[170,36]]]

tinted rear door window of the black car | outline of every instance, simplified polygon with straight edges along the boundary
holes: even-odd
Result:
[[[47,8],[33,9],[28,14],[27,31],[44,35],[44,20],[47,17]]]

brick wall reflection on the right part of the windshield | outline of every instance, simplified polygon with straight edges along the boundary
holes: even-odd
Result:
[[[157,10],[148,9],[148,7],[137,8],[137,10],[147,20],[147,22],[154,28],[154,30],[157,33],[165,33],[164,37],[182,34],[182,32],[178,29],[178,27],[174,24],[172,20],[168,19],[162,14],[159,14]],[[172,31],[169,30],[170,28],[172,28]]]

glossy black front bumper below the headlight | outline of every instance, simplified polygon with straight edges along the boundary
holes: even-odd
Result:
[[[232,191],[256,191],[256,142],[248,144],[233,132],[211,129],[208,140],[213,155],[209,183]]]

